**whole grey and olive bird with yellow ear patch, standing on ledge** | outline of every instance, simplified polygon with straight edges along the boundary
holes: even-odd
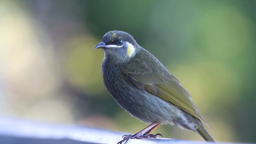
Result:
[[[106,90],[126,112],[150,124],[134,135],[124,135],[118,144],[129,139],[162,136],[150,134],[161,124],[197,132],[206,142],[214,142],[202,122],[210,126],[198,112],[190,94],[130,34],[109,31],[94,50],[99,48],[104,51],[101,72]]]

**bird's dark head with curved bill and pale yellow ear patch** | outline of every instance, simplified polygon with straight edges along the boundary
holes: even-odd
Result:
[[[105,56],[115,58],[116,62],[126,62],[136,54],[138,47],[130,34],[114,30],[104,34],[102,42],[94,50],[102,48]]]

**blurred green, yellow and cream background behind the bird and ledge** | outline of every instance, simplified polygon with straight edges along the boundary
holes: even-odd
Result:
[[[0,116],[135,133],[105,90],[101,50],[130,33],[191,94],[216,141],[256,142],[255,0],[1,0]],[[169,125],[154,133],[202,140]]]

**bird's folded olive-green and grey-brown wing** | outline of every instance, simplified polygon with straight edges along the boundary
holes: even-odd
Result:
[[[209,126],[180,82],[152,54],[144,52],[136,54],[123,68],[130,81],[138,88],[174,104]]]

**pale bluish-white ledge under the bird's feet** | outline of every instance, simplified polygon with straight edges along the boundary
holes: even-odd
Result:
[[[0,118],[0,144],[116,144],[127,133],[89,126],[55,125]],[[188,140],[157,138],[128,140],[125,144],[208,144]],[[242,144],[226,143],[218,144]]]

